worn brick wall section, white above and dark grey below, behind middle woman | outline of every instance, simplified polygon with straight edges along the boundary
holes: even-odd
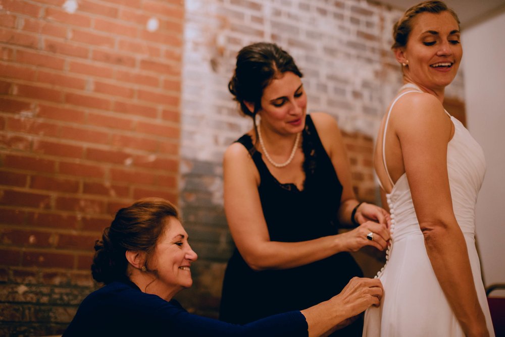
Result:
[[[338,119],[357,195],[370,198],[377,184],[369,137],[375,138],[401,85],[390,50],[391,27],[401,13],[360,0],[185,0],[185,6],[179,206],[199,259],[195,286],[179,300],[192,312],[217,317],[233,249],[221,161],[226,147],[252,126],[227,89],[236,53],[252,42],[273,41],[293,55],[305,75],[309,111]],[[461,83],[448,95],[462,98]],[[380,256],[355,257],[368,275],[383,265]]]

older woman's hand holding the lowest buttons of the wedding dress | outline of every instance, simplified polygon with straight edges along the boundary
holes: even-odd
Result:
[[[346,316],[353,317],[372,305],[379,306],[383,292],[378,278],[353,277],[340,294],[332,297],[330,301],[335,301],[335,305],[345,310]]]

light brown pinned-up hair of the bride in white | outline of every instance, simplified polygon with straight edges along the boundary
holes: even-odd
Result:
[[[433,13],[438,14],[441,12],[447,11],[449,12],[456,22],[458,22],[458,26],[460,24],[460,19],[458,19],[458,15],[452,9],[448,8],[444,2],[441,1],[424,1],[415,6],[409,8],[403,16],[398,19],[398,21],[393,26],[393,45],[391,49],[395,49],[398,47],[405,47],[407,45],[407,41],[409,40],[409,34],[412,31],[412,24],[414,18],[421,13]]]

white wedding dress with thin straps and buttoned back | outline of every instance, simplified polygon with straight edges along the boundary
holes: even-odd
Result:
[[[421,91],[412,84],[406,87],[415,90],[400,94],[391,104],[386,117],[384,139],[389,114],[396,100],[404,94]],[[447,145],[452,207],[467,244],[479,303],[484,311],[490,336],[494,336],[475,247],[475,204],[486,171],[484,153],[460,121],[453,117],[450,119],[455,126],[454,136]],[[385,165],[384,153],[383,146]],[[389,173],[387,175],[389,177]],[[426,253],[424,237],[405,173],[393,184],[391,193],[386,196],[392,219],[392,244],[386,255],[386,265],[377,274],[384,287],[384,295],[379,307],[370,307],[366,311],[363,336],[464,336]],[[454,282],[458,280],[455,279]]]

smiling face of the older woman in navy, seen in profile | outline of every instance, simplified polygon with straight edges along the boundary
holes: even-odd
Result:
[[[189,246],[188,235],[178,219],[166,217],[165,227],[149,261],[149,269],[157,272],[157,279],[152,285],[156,288],[155,293],[167,298],[165,294],[173,295],[191,287],[190,265],[197,255]]]

